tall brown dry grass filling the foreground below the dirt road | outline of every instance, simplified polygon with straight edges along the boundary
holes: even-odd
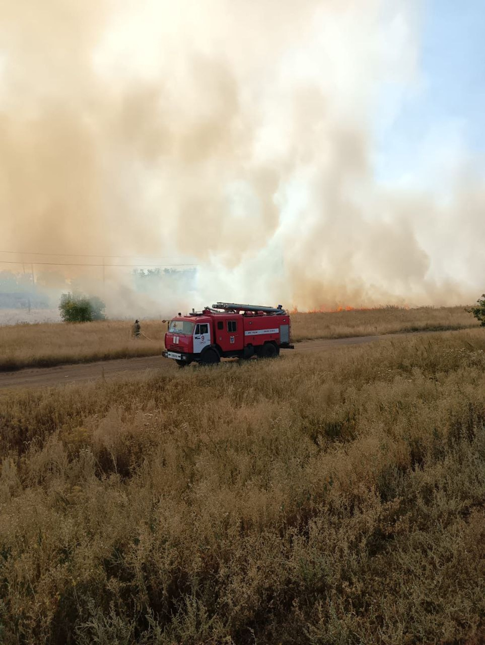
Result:
[[[0,642],[478,644],[485,330],[0,397]]]

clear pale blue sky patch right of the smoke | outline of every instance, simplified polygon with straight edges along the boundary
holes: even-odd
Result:
[[[376,172],[382,181],[399,181],[416,169],[419,172],[432,151],[446,154],[447,142],[450,148],[483,159],[484,0],[426,0],[418,68],[417,87],[407,88],[404,95],[391,84],[383,88],[385,100],[395,91],[401,105],[392,123],[375,124]]]

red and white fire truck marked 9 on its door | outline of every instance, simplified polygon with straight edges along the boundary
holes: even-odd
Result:
[[[273,358],[293,349],[291,323],[281,304],[217,303],[202,312],[179,313],[168,324],[163,356],[184,367],[191,362],[217,363],[221,358]]]

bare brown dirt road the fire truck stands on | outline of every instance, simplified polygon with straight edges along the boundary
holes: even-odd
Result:
[[[337,348],[340,345],[360,345],[366,342],[389,339],[394,335],[396,334],[298,342],[295,344],[294,350],[287,350],[282,354],[290,353],[290,351],[296,353],[319,352]],[[402,334],[399,335],[402,336]],[[5,388],[52,387],[74,382],[95,381],[101,378],[106,380],[114,379],[115,377],[124,378],[132,376],[134,372],[146,372],[147,370],[177,373],[179,368],[175,365],[175,361],[168,361],[161,356],[59,365],[49,368],[27,368],[18,372],[0,373],[0,390]]]

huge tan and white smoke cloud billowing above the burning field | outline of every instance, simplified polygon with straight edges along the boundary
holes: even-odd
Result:
[[[0,6],[0,250],[47,254],[0,260],[198,265],[192,289],[152,293],[128,266],[52,266],[112,315],[475,299],[480,178],[375,178],[382,92],[417,83],[417,4]]]

